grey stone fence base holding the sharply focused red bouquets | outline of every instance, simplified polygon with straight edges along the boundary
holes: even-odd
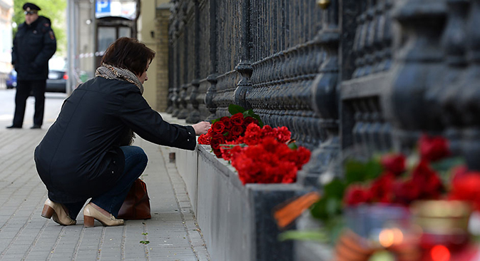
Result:
[[[242,185],[210,146],[172,149],[212,260],[292,260],[293,242],[278,242],[273,209],[305,193],[297,184]],[[292,228],[292,227],[290,227]]]

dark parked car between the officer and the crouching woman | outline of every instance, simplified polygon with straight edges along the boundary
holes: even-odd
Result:
[[[66,93],[66,61],[65,58],[53,57],[48,61],[48,79],[46,79],[46,91]]]

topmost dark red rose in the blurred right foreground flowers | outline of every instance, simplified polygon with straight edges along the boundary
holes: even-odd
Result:
[[[448,140],[441,136],[422,135],[419,139],[420,156],[424,160],[435,161],[450,155]]]

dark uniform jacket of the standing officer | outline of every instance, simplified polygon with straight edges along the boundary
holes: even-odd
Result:
[[[14,38],[11,63],[19,81],[46,80],[48,60],[56,51],[56,39],[50,19],[39,16],[30,25],[19,26]]]

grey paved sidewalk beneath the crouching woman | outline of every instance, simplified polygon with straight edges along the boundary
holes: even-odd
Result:
[[[168,148],[136,138],[149,159],[142,178],[151,220],[84,228],[78,215],[77,225],[64,227],[40,215],[47,194],[33,154],[48,126],[26,127],[0,126],[0,260],[210,260]]]

